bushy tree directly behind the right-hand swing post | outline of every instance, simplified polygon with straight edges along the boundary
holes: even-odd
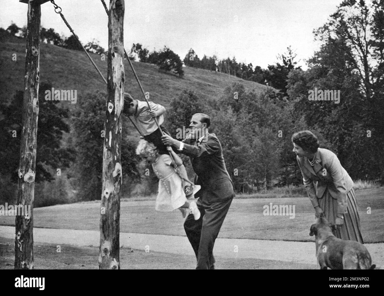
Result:
[[[73,117],[73,147],[78,157],[73,166],[74,175],[78,176],[78,198],[80,200],[101,199],[103,173],[103,140],[106,94],[88,93],[79,98],[79,106]],[[127,121],[127,120],[126,120]],[[124,120],[123,120],[124,122]],[[127,128],[124,127],[126,131]],[[121,163],[124,186],[139,181],[137,169],[139,158],[135,153],[137,139],[128,133],[122,135]]]

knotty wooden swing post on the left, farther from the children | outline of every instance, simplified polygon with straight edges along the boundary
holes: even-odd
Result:
[[[15,269],[33,269],[33,199],[35,191],[36,135],[39,114],[40,4],[28,3],[28,25],[20,141],[17,204],[31,206],[30,213],[16,215]]]

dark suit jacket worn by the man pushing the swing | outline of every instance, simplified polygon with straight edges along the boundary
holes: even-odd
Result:
[[[189,156],[196,173],[194,183],[201,186],[197,196],[204,202],[220,202],[235,196],[231,178],[225,168],[222,147],[215,134],[206,133],[202,142],[184,139],[182,153]]]

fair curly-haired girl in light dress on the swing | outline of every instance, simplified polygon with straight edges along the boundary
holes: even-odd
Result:
[[[182,209],[189,209],[189,213],[194,215],[194,219],[199,220],[200,211],[194,199],[194,192],[189,191],[189,195],[186,196],[183,190],[183,183],[188,180],[183,162],[169,146],[167,151],[171,153],[177,165],[177,171],[172,166],[172,158],[168,154],[159,154],[159,150],[156,149],[154,144],[146,140],[140,140],[136,149],[137,155],[152,164],[153,171],[159,178],[159,193],[157,194],[155,209],[170,212],[179,208],[183,213],[183,217],[185,211]],[[195,192],[200,189],[199,185],[194,187]]]

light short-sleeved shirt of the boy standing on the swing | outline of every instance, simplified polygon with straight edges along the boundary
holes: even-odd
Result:
[[[149,108],[147,102],[137,101],[137,112],[133,116],[137,128],[143,136],[147,136],[157,130],[157,125],[154,118],[149,114]],[[163,107],[162,105],[149,102],[151,109],[157,111]],[[164,116],[160,115],[156,117],[157,122],[161,125],[164,122]]]

